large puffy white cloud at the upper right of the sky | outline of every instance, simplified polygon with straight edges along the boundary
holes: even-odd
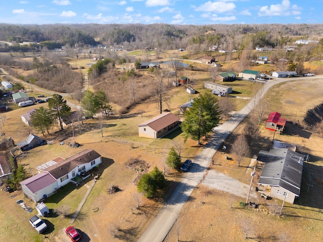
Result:
[[[292,10],[292,11],[291,11]],[[260,8],[258,16],[289,16],[299,15],[301,12],[297,5],[292,5],[289,0],[283,0],[281,4],[263,6]]]

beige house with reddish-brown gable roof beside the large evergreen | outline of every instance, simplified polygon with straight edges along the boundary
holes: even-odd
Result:
[[[180,126],[180,118],[171,112],[161,113],[138,125],[139,137],[161,138]]]

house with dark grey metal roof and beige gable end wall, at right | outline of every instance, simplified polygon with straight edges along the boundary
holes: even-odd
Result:
[[[264,163],[258,192],[294,203],[300,195],[304,155],[288,148],[261,150],[257,161]]]

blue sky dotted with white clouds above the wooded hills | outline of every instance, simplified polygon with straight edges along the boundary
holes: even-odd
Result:
[[[322,23],[323,0],[2,0],[0,23]]]

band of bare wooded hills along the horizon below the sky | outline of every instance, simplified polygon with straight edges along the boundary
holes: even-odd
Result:
[[[253,25],[169,25],[169,24],[0,24],[0,40],[13,43],[38,42],[34,49],[64,45],[95,46],[99,43],[123,45],[124,48],[200,48],[217,45],[221,49],[241,50],[251,44],[282,47],[297,39],[320,40],[323,24],[253,24]],[[19,50],[7,46],[2,51]],[[26,46],[25,46],[26,48]],[[27,51],[22,50],[22,51]]]

